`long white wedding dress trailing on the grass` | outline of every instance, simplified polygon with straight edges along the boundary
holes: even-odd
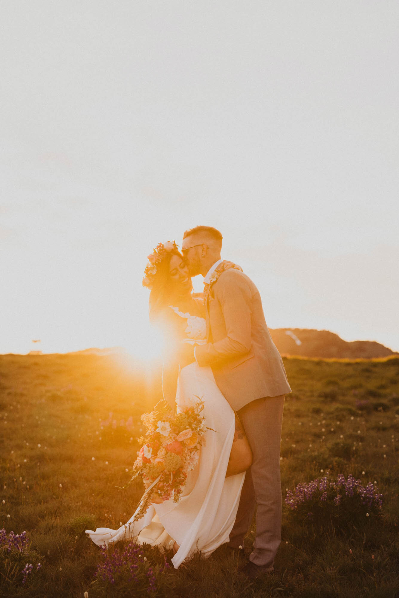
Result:
[[[189,313],[177,315],[187,319],[184,342],[201,343],[205,339],[205,320]],[[201,415],[212,430],[204,434],[204,443],[197,466],[188,474],[179,502],[173,498],[158,505],[150,505],[138,521],[134,514],[117,530],[97,527],[86,530],[99,546],[109,542],[133,538],[138,544],[170,547],[179,545],[172,563],[181,563],[201,551],[209,556],[217,547],[229,541],[240,501],[245,472],[226,478],[226,469],[235,432],[235,414],[220,392],[210,367],[200,368],[196,362],[180,370],[177,383],[177,411],[195,403],[198,396],[204,401]]]

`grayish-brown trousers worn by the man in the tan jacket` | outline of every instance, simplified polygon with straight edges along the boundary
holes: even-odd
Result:
[[[250,560],[272,568],[281,542],[280,441],[285,395],[256,399],[238,411],[253,453],[229,546],[244,547],[256,509],[256,538]]]

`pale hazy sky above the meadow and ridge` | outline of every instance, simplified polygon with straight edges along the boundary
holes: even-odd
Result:
[[[146,255],[197,224],[269,327],[399,350],[398,30],[394,0],[2,0],[0,352],[145,354]]]

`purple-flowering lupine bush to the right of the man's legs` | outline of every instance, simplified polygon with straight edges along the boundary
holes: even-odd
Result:
[[[382,495],[372,482],[364,487],[351,474],[346,480],[339,474],[336,480],[324,477],[298,484],[293,492],[288,490],[286,505],[297,523],[314,531],[344,532],[348,526],[364,527],[370,517],[379,517]]]

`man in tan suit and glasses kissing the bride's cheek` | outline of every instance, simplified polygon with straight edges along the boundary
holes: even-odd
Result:
[[[191,228],[183,236],[182,254],[191,276],[204,276],[207,344],[195,347],[195,359],[211,366],[253,453],[229,546],[244,546],[257,507],[253,551],[242,569],[254,579],[273,570],[281,541],[281,423],[284,396],[291,389],[259,291],[239,267],[221,260],[222,239],[216,228]]]

